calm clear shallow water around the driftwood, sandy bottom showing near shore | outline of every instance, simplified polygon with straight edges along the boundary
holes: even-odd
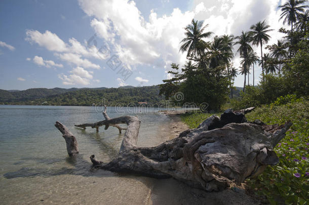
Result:
[[[119,110],[118,110],[119,111]],[[108,108],[108,115],[117,113]],[[133,111],[133,110],[131,110]],[[156,146],[168,139],[170,120],[155,110],[135,110],[141,120],[138,146]],[[125,112],[125,113],[124,113]],[[153,179],[90,170],[89,156],[103,161],[117,156],[124,134],[118,129],[82,130],[74,124],[103,119],[95,107],[0,106],[0,196],[13,203],[140,204],[149,200]],[[72,159],[54,127],[61,121],[75,135],[80,154]],[[125,127],[125,125],[123,125]]]

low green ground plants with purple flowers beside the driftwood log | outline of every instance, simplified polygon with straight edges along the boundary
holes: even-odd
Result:
[[[182,120],[196,128],[208,113],[184,114]],[[220,114],[216,113],[220,116]],[[246,114],[249,121],[260,119],[266,124],[284,124],[291,120],[286,137],[274,148],[280,162],[268,166],[258,177],[246,183],[256,194],[265,195],[271,204],[309,204],[309,102],[298,100],[284,105],[263,105]]]

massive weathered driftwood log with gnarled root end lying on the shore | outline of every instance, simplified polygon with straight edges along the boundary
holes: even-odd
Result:
[[[105,130],[118,124],[128,127],[118,157],[104,163],[91,155],[95,167],[155,178],[173,177],[207,191],[222,190],[231,182],[240,184],[260,174],[268,165],[276,165],[279,159],[273,148],[292,125],[291,122],[270,126],[259,120],[247,122],[243,113],[228,109],[220,118],[212,115],[198,128],[186,130],[159,146],[136,147],[140,128],[136,116],[109,118],[106,112],[103,115],[105,120],[92,125],[105,125]],[[77,143],[67,140],[66,143],[73,146],[72,150],[77,149],[74,147]]]

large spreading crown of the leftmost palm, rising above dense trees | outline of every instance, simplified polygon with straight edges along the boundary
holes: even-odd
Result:
[[[191,24],[184,28],[186,37],[180,42],[183,44],[180,46],[179,52],[187,51],[187,57],[190,55],[197,55],[198,57],[203,55],[207,43],[202,38],[209,37],[212,34],[212,32],[203,32],[208,26],[208,24],[203,26],[203,23],[204,21],[192,19]]]

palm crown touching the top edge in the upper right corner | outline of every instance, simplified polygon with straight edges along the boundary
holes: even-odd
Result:
[[[284,5],[279,6],[282,13],[280,15],[280,19],[283,19],[283,24],[286,22],[288,25],[291,25],[291,32],[293,32],[293,23],[300,17],[300,13],[304,11],[308,6],[301,6],[301,4],[305,3],[306,0],[289,0]]]

